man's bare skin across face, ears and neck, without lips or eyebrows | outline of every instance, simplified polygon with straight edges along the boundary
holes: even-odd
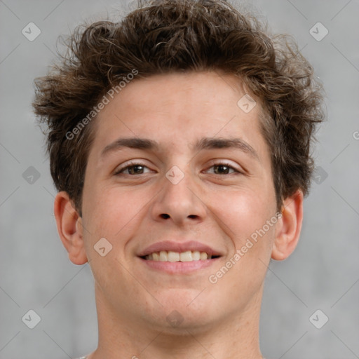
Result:
[[[264,277],[271,258],[286,259],[297,245],[303,194],[286,198],[276,224],[210,283],[209,276],[276,214],[271,154],[259,124],[262,107],[255,99],[245,113],[237,105],[244,94],[233,75],[156,75],[129,83],[97,116],[83,217],[66,192],[57,194],[54,206],[69,259],[89,262],[95,278],[99,344],[88,358],[262,358]],[[159,147],[124,147],[102,158],[104,147],[120,137],[148,138]],[[242,149],[194,149],[203,137],[241,138],[257,157]],[[130,160],[146,167],[116,175]],[[223,162],[234,170],[213,167]],[[184,174],[178,184],[165,177],[174,165]],[[100,238],[112,245],[104,257],[93,248]],[[192,273],[149,269],[137,254],[166,240],[199,241],[222,257]],[[176,327],[166,320],[172,311],[183,320]]]

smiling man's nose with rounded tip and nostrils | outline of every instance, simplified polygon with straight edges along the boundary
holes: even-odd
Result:
[[[186,172],[182,180],[174,184],[163,178],[162,191],[151,206],[151,216],[158,222],[173,222],[177,226],[203,222],[207,215],[201,187]]]

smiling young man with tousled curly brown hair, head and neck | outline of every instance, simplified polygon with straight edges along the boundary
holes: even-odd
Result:
[[[57,230],[95,278],[86,358],[262,358],[266,269],[297,245],[323,120],[311,66],[215,0],[149,1],[69,48],[34,108]]]

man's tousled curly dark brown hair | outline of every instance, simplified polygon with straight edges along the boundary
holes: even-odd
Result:
[[[262,102],[278,208],[298,189],[307,193],[323,88],[291,36],[270,35],[254,15],[225,0],[149,0],[121,21],[76,27],[66,45],[61,61],[35,80],[33,106],[48,129],[55,187],[67,191],[80,215],[95,120],[72,140],[66,134],[133,69],[135,81],[184,71],[238,76]]]

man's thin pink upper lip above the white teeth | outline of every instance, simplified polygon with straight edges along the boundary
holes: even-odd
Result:
[[[154,244],[149,245],[149,247],[140,251],[138,257],[144,257],[146,255],[150,255],[154,252],[161,252],[161,250],[172,251],[172,252],[187,252],[187,250],[198,252],[206,252],[208,255],[213,256],[221,256],[221,253],[217,250],[211,248],[209,245],[205,245],[196,241],[188,241],[188,242],[171,242],[171,241],[161,241]]]

